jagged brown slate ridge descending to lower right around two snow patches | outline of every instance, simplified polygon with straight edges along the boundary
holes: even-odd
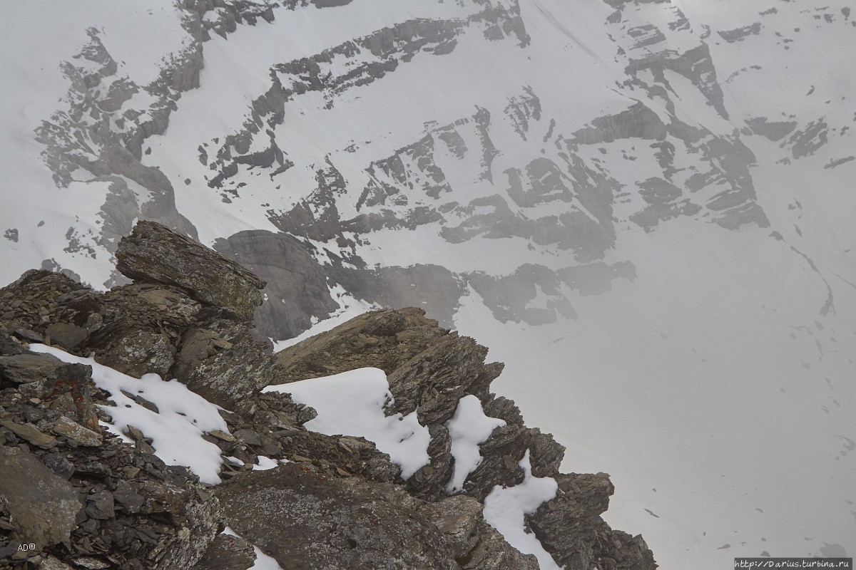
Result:
[[[527,427],[514,402],[490,393],[490,382],[502,372],[502,364],[485,363],[486,355],[487,350],[472,338],[426,319],[422,309],[382,309],[288,347],[276,354],[276,360],[282,364],[278,380],[282,384],[357,367],[379,367],[387,373],[389,391],[395,398],[390,413],[417,412],[419,422],[428,426],[431,434],[430,463],[407,481],[398,481],[413,497],[431,502],[432,508],[443,505],[461,515],[460,520],[438,523],[458,537],[456,548],[467,544],[467,539],[461,538],[469,532],[465,529],[481,524],[478,517],[464,514],[470,501],[480,508],[497,485],[520,484],[525,476],[520,461],[528,452],[532,475],[552,477],[559,483],[557,497],[542,505],[526,524],[560,566],[587,570],[607,561],[613,566],[603,567],[657,567],[643,538],[613,531],[600,517],[613,491],[609,476],[559,473],[564,447],[550,434]],[[479,445],[482,461],[467,476],[463,495],[448,497],[446,485],[454,459],[446,422],[455,414],[461,397],[467,395],[478,397],[484,414],[502,419],[506,425],[494,429]],[[462,562],[465,559],[466,563]],[[509,564],[495,550],[479,547],[456,560],[461,567],[473,568]]]

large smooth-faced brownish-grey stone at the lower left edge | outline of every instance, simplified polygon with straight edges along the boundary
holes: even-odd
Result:
[[[42,465],[35,456],[0,444],[0,502],[11,515],[21,543],[41,550],[51,544],[70,546],[70,534],[82,508],[74,487]]]

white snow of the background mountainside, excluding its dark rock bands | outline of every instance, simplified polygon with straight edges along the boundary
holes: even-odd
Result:
[[[453,324],[490,347],[490,359],[506,363],[494,390],[568,448],[564,471],[610,473],[616,491],[604,518],[641,533],[663,568],[718,570],[734,556],[763,553],[853,556],[856,6],[851,0],[628,1],[615,15],[610,4],[616,3],[520,0],[526,45],[487,39],[483,27],[470,26],[447,54],[419,51],[366,85],[295,96],[272,134],[265,127],[251,144],[257,151],[275,141],[294,166],[272,175],[242,164],[229,179],[234,193],[211,188],[214,155],[252,116],[251,102],[270,87],[272,66],[412,18],[466,18],[475,4],[354,0],[341,9],[277,9],[272,23],[241,24],[228,38],[212,34],[203,44],[199,88],[177,98],[166,131],[146,139],[142,162],[169,179],[178,211],[205,244],[241,230],[276,231],[268,211],[287,211],[311,197],[318,172],[331,165],[344,179],[335,193],[343,220],[460,205],[449,206],[444,222],[363,234],[355,253],[368,267],[432,263],[502,277],[524,264],[553,271],[591,261],[535,236],[485,230],[460,243],[443,237],[449,227],[499,212],[478,202],[461,211],[493,196],[503,198],[508,215],[606,220],[615,240],[595,261],[630,263],[632,278],[587,288],[562,282],[555,292],[527,285],[526,310],[549,311],[562,297],[575,317],[559,314],[538,326],[498,320],[489,299],[469,285]],[[189,41],[180,12],[169,0],[142,7],[81,0],[10,3],[4,15],[0,71],[11,87],[0,92],[0,281],[43,261],[55,267],[53,260],[103,286],[113,267],[101,238],[110,219],[100,213],[108,182],[80,168],[68,187],[57,188],[33,131],[68,110],[70,81],[59,66],[89,65],[73,57],[91,40],[87,28],[96,28],[116,60],[116,77],[146,85]],[[709,59],[688,69],[639,63],[688,51]],[[339,73],[369,58],[364,50],[325,65]],[[90,95],[103,98],[107,87]],[[539,111],[525,118],[523,138],[522,115],[511,103],[526,89],[538,97]],[[637,103],[663,122],[662,140],[574,142],[592,121]],[[121,113],[151,113],[153,105],[140,91]],[[490,114],[484,136],[495,150],[486,168],[484,138],[473,120],[479,109]],[[448,125],[466,156],[442,142],[439,129]],[[424,157],[402,152],[407,172],[395,182],[397,193],[358,208],[369,179],[383,176],[383,168],[372,176],[367,168],[428,135],[431,166],[450,190],[427,197],[427,175],[419,170]],[[709,146],[686,142],[694,137]],[[714,143],[736,150],[716,156]],[[92,144],[84,140],[76,156],[91,158],[86,145]],[[556,178],[571,202],[559,199],[561,191],[531,208],[509,197],[509,169],[522,173],[528,191],[526,167],[536,158],[560,165]],[[581,165],[576,175],[584,170],[606,180],[609,189],[598,196],[609,208],[600,217],[597,203],[580,201],[587,182],[574,177],[569,161]],[[746,172],[738,176],[735,162]],[[633,216],[669,197],[646,193],[643,185],[657,178],[680,193],[673,204],[701,209],[641,226]],[[123,179],[145,202],[146,191]],[[550,176],[536,181],[546,184]],[[734,185],[744,194],[728,195]],[[745,198],[769,223],[718,225],[722,210],[707,207],[717,196]],[[342,253],[335,239],[306,243],[322,260],[330,259],[324,250]],[[335,289],[342,305],[337,318],[371,306],[354,291]],[[318,330],[332,323],[322,320]]]

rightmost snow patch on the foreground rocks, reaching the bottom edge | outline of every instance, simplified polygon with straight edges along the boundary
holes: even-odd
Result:
[[[496,485],[490,495],[484,497],[484,520],[502,533],[508,544],[515,549],[523,554],[535,555],[541,570],[561,570],[538,542],[538,538],[526,532],[524,526],[524,516],[534,513],[541,503],[556,497],[559,485],[555,479],[532,477],[529,450],[526,450],[526,455],[523,455],[519,465],[526,472],[523,483],[504,489]]]

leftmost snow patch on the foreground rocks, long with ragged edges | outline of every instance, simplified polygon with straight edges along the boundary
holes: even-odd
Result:
[[[152,438],[152,447],[167,465],[183,465],[210,485],[220,483],[220,448],[202,438],[205,432],[229,432],[229,426],[217,412],[217,406],[187,390],[178,380],[164,382],[158,374],[144,374],[136,379],[106,367],[92,358],[69,355],[45,344],[30,344],[33,352],[44,352],[64,362],[92,367],[92,381],[110,392],[116,406],[101,406],[113,418],[108,431],[130,442],[122,432],[134,426]],[[158,407],[158,412],[144,408],[123,392],[140,396]]]

